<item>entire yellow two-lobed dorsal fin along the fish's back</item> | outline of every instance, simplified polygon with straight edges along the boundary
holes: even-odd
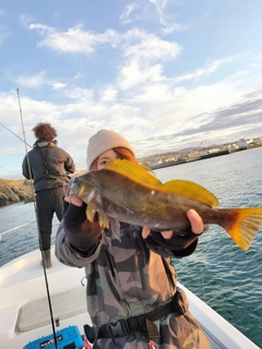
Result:
[[[130,160],[116,159],[109,163],[104,169],[118,172],[148,189],[186,196],[212,207],[218,205],[216,196],[203,186],[184,180],[171,180],[163,184],[141,165]]]

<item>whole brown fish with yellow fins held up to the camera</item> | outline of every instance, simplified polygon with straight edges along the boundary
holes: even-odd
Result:
[[[87,204],[86,217],[109,226],[109,217],[155,231],[182,233],[190,228],[187,213],[195,209],[204,224],[224,228],[245,251],[262,227],[262,207],[214,208],[217,198],[203,186],[184,180],[162,183],[142,166],[117,159],[100,170],[75,177],[64,186]]]

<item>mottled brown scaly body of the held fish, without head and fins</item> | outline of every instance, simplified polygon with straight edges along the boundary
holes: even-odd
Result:
[[[90,178],[102,197],[104,212],[109,217],[129,224],[147,226],[154,230],[184,231],[189,227],[187,212],[190,208],[195,209],[205,224],[218,224],[223,215],[225,219],[225,212],[222,214],[200,202],[152,189],[111,170],[90,172]],[[110,185],[102,186],[100,183],[106,179]]]

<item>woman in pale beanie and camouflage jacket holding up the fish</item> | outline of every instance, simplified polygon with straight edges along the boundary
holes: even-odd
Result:
[[[88,340],[93,348],[103,349],[211,348],[188,311],[186,294],[177,288],[177,274],[170,263],[170,258],[193,253],[204,230],[202,218],[195,210],[188,210],[187,229],[179,233],[152,229],[146,220],[143,226],[130,224],[131,209],[122,219],[126,202],[134,200],[143,208],[144,201],[143,195],[132,195],[140,173],[128,168],[132,182],[124,185],[118,176],[124,169],[116,159],[138,164],[124,137],[100,130],[90,139],[87,173],[99,172],[99,180],[94,186],[76,179],[66,188],[64,215],[56,239],[60,262],[85,267],[87,311],[93,323],[93,327],[86,326]],[[111,163],[110,178],[103,169]],[[151,178],[157,180],[148,176],[148,182]],[[117,190],[110,193],[107,188],[114,184]],[[154,198],[153,190],[151,195]],[[121,207],[114,204],[118,201]]]

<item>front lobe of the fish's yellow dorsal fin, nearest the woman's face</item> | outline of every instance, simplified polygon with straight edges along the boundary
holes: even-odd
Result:
[[[109,163],[105,169],[118,172],[124,177],[130,178],[132,181],[148,186],[150,189],[156,189],[162,182],[148,172],[141,165],[130,160],[116,159]]]

